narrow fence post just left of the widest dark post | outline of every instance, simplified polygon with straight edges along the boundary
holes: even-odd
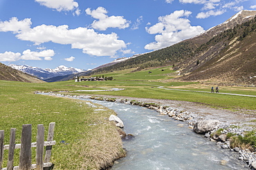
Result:
[[[7,170],[13,169],[13,161],[15,156],[15,134],[16,134],[16,129],[15,128],[10,129],[10,145],[9,145]]]

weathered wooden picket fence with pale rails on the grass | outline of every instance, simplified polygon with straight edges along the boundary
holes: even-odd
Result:
[[[0,131],[0,169],[10,170],[10,169],[37,169],[42,170],[44,168],[49,168],[53,165],[50,162],[51,149],[55,145],[55,140],[53,140],[55,123],[50,123],[48,129],[47,141],[44,141],[44,125],[37,125],[37,142],[31,142],[32,138],[32,126],[31,124],[22,125],[21,131],[21,144],[15,144],[15,133],[16,129],[12,128],[10,130],[10,145],[3,145],[4,141],[4,131]],[[46,146],[46,153],[44,155],[44,146]],[[37,147],[36,153],[36,164],[31,164],[31,147]],[[7,167],[2,168],[3,164],[3,150],[9,149]],[[19,166],[14,167],[14,153],[15,149],[20,149],[19,152]]]

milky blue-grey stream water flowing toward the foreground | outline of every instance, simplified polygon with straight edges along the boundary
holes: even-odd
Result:
[[[91,101],[116,111],[125,124],[123,130],[134,135],[123,142],[127,156],[117,160],[111,170],[248,169],[237,159],[238,153],[220,149],[185,123],[145,107]]]

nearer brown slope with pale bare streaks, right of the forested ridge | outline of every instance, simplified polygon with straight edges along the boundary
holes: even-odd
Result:
[[[183,81],[256,84],[256,17],[214,36],[179,65]]]

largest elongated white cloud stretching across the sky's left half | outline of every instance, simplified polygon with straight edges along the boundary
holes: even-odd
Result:
[[[6,22],[11,23],[10,21]],[[89,28],[68,29],[68,25],[55,26],[43,24],[34,28],[19,30],[21,31],[17,32],[18,29],[15,31],[17,38],[20,40],[31,41],[35,45],[50,41],[64,45],[69,44],[72,48],[82,49],[82,52],[93,56],[113,56],[118,50],[126,47],[125,42],[119,40],[116,33],[99,34]],[[0,31],[14,30],[3,26]]]

